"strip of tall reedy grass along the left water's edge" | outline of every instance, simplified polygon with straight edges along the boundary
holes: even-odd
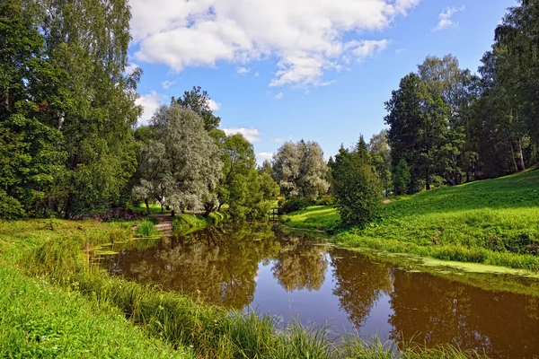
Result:
[[[46,241],[23,256],[19,264],[31,276],[55,278],[55,285],[82,293],[102,307],[118,308],[148,337],[175,348],[192,348],[208,358],[393,358],[392,348],[369,346],[355,337],[337,344],[323,327],[305,328],[299,320],[278,325],[270,316],[227,311],[179,293],[164,292],[110,277],[81,260],[73,241]],[[405,357],[462,358],[467,354],[444,348],[403,347]],[[451,353],[454,356],[447,356]],[[446,356],[444,356],[446,355]]]

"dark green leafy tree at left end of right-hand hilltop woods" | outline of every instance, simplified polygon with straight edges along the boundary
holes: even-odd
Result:
[[[430,189],[430,176],[446,168],[443,147],[448,142],[448,108],[439,93],[431,91],[417,74],[401,80],[399,90],[385,102],[390,126],[388,139],[393,166],[404,159],[411,168],[411,193],[423,184]]]

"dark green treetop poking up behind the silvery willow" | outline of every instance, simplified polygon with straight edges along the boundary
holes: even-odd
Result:
[[[221,118],[215,116],[210,108],[210,98],[208,92],[202,91],[200,86],[193,86],[191,91],[183,92],[183,96],[178,99],[172,97],[171,103],[177,103],[183,109],[190,109],[204,120],[204,128],[211,132],[219,127]]]

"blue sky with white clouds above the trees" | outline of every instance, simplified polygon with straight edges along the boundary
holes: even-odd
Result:
[[[384,101],[427,56],[473,72],[516,0],[130,0],[129,64],[147,124],[201,86],[257,160],[284,141],[326,158],[382,130]]]

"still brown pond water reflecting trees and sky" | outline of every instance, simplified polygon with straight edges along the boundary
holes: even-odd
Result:
[[[297,315],[304,324],[382,341],[450,343],[494,358],[539,355],[538,296],[409,273],[320,241],[276,235],[266,225],[211,228],[107,250],[119,251],[101,256],[111,274],[228,308],[251,307],[282,320]]]

